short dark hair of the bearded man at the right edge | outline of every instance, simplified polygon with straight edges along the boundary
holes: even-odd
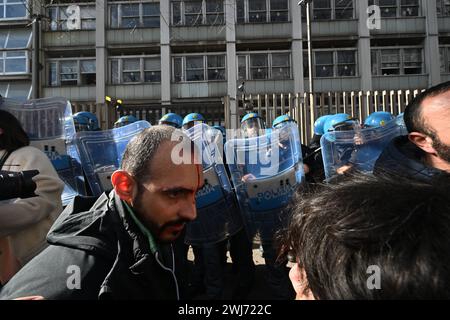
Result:
[[[420,132],[424,134],[432,132],[432,129],[427,127],[422,117],[422,102],[427,98],[438,96],[447,91],[450,91],[450,81],[443,82],[425,90],[406,106],[403,118],[408,132]]]

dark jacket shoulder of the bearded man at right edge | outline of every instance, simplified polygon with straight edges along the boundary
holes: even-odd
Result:
[[[447,176],[445,171],[428,167],[423,162],[424,151],[409,141],[408,136],[394,138],[375,163],[373,173],[397,175],[428,181],[437,176]]]

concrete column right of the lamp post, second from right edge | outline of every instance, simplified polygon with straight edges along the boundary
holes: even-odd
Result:
[[[356,6],[356,17],[358,18],[358,67],[359,76],[361,77],[361,90],[368,91],[373,89],[370,30],[367,27],[368,0],[358,0],[354,4]]]

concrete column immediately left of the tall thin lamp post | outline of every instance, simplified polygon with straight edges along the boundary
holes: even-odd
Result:
[[[302,10],[297,0],[290,0],[292,20],[292,75],[294,77],[294,93],[305,92],[303,77],[303,34]]]

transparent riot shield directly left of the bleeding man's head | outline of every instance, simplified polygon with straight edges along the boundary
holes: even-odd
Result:
[[[76,150],[94,195],[112,189],[111,175],[119,169],[128,142],[151,125],[147,121],[105,131],[77,132],[69,150]]]

